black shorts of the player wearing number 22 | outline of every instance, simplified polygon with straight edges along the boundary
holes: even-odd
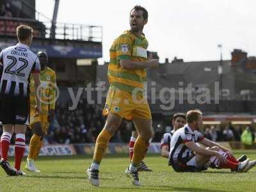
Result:
[[[3,125],[29,125],[29,98],[1,96],[1,121]]]

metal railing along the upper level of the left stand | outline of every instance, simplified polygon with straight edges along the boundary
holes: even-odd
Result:
[[[0,17],[0,35],[16,36],[16,28],[20,24],[31,26],[34,29],[34,36],[37,38],[102,42],[101,26],[57,22],[54,26],[55,33],[52,37],[51,22],[40,22],[34,19],[20,19],[15,17]]]

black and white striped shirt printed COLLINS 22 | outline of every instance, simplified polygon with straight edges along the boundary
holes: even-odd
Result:
[[[27,45],[19,43],[1,51],[0,63],[3,63],[0,94],[28,97],[31,72],[40,72],[36,54]]]

